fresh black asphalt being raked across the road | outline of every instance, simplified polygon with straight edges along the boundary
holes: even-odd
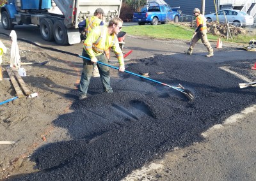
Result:
[[[255,80],[250,73],[255,60],[244,58],[159,55],[127,64],[128,71],[149,73],[173,86],[180,83],[193,92],[193,102],[174,89],[127,73],[111,79],[114,93],[103,93],[99,78],[92,78],[89,97],[74,101],[74,112],[53,122],[73,140],[39,148],[31,160],[40,171],[10,180],[121,180],[175,147],[204,140],[200,134],[209,127],[256,102],[255,88],[240,89],[238,83],[244,81],[220,69],[232,67]]]

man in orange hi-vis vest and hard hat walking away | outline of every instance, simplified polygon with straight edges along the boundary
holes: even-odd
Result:
[[[196,17],[196,30],[195,30],[195,33],[193,34],[190,47],[188,48],[188,51],[186,51],[185,53],[188,55],[191,55],[196,42],[201,39],[202,43],[204,44],[204,46],[207,48],[209,52],[209,54],[205,56],[212,57],[213,50],[212,50],[211,44],[207,39],[207,34],[206,34],[207,33],[206,18],[204,17],[204,15],[200,14],[200,10],[198,8],[194,9],[194,15]]]

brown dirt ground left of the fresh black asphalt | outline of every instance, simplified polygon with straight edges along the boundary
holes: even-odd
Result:
[[[8,48],[2,64],[8,64],[11,41],[6,36],[0,38]],[[26,69],[23,80],[29,90],[39,96],[25,96],[0,106],[0,141],[15,141],[12,145],[0,145],[0,180],[36,171],[29,162],[33,150],[45,143],[69,139],[64,130],[56,130],[51,122],[58,115],[70,112],[71,101],[77,99],[76,85],[82,66],[81,59],[72,55],[50,52],[22,41],[18,41],[18,45],[21,62],[35,62],[22,66]],[[36,64],[44,61],[49,63]],[[4,79],[0,81],[0,102],[16,96],[6,72],[8,66],[2,67]]]

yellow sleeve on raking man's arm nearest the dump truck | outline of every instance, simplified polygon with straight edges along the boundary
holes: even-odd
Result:
[[[84,41],[84,50],[90,56],[91,59],[95,57],[92,45],[93,43],[95,43],[95,41],[98,40],[99,37],[100,37],[100,29],[92,29],[92,31],[88,34],[88,36],[86,37],[86,40]]]

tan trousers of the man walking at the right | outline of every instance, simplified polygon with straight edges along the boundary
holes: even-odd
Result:
[[[195,36],[193,36],[191,43],[190,43],[190,49],[193,50],[193,48],[195,47],[195,44],[198,40],[201,39],[202,43],[204,44],[204,46],[207,48],[208,52],[212,52],[212,47],[211,44],[208,41],[207,38],[207,30],[203,30],[203,31],[198,31]]]

